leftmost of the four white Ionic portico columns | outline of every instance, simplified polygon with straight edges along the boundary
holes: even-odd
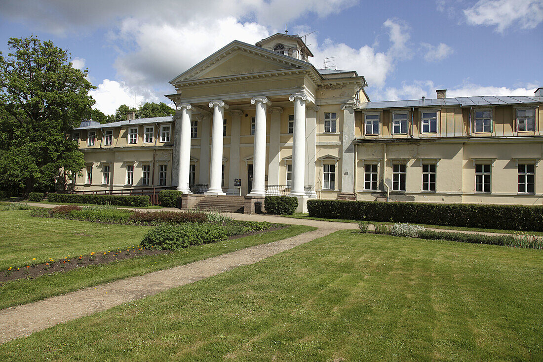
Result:
[[[179,140],[179,174],[177,190],[182,191],[185,194],[190,194],[188,189],[188,169],[191,164],[191,111],[192,105],[188,103],[179,104],[177,109],[181,111],[181,117],[177,119],[177,122],[181,122],[179,135],[176,137]]]

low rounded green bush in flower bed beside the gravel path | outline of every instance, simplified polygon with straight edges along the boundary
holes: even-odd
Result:
[[[165,225],[149,230],[141,245],[159,250],[179,250],[190,245],[209,244],[227,239],[222,226],[206,224]]]

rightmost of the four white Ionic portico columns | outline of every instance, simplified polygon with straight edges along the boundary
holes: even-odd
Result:
[[[304,196],[305,176],[305,103],[307,96],[295,94],[288,98],[294,102],[294,136],[292,142],[291,195]]]

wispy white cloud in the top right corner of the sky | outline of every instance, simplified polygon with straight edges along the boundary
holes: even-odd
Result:
[[[543,21],[543,0],[479,0],[464,16],[468,24],[496,26],[498,33],[512,26],[533,29]]]

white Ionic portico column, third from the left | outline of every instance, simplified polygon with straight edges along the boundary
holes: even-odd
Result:
[[[252,156],[252,190],[251,195],[264,196],[264,178],[266,177],[266,103],[271,102],[266,97],[252,98],[251,104],[256,104],[255,113],[255,146]]]

